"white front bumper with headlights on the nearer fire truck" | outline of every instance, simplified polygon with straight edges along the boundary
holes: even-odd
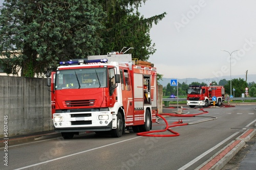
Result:
[[[53,114],[56,132],[109,131],[112,129],[110,112],[66,112]]]

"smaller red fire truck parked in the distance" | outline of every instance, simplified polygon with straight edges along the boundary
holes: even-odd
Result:
[[[187,90],[187,105],[208,107],[217,103],[218,106],[224,101],[225,89],[223,86],[189,86]]]

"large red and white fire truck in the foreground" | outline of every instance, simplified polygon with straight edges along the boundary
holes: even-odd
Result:
[[[118,52],[60,62],[48,78],[54,129],[120,137],[125,129],[150,131],[156,122],[157,72],[150,62]]]

